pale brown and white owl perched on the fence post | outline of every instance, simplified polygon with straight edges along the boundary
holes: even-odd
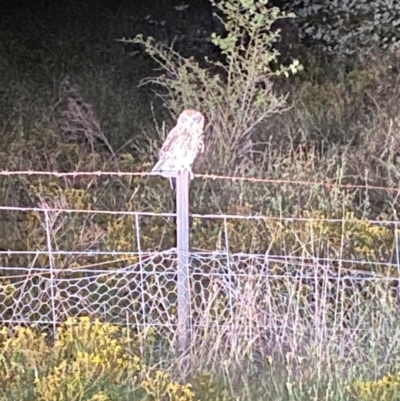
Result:
[[[189,171],[193,178],[192,164],[197,154],[204,151],[204,122],[199,111],[184,110],[165,138],[152,172],[170,178],[172,188],[175,188],[174,177],[179,171]]]

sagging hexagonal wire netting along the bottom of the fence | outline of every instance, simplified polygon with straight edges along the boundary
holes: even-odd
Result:
[[[3,266],[1,320],[51,326],[89,315],[174,336],[176,250],[141,257],[115,270]],[[194,333],[237,333],[248,341],[293,347],[310,336],[323,341],[333,333],[368,334],[377,319],[387,320],[379,325],[386,330],[399,318],[393,315],[398,292],[389,277],[343,272],[316,260],[244,253],[190,253],[189,264]]]

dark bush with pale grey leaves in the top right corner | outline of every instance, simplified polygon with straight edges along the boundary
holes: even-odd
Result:
[[[367,55],[371,48],[399,44],[398,2],[295,0],[287,9],[297,16],[299,36],[322,43],[328,53]]]

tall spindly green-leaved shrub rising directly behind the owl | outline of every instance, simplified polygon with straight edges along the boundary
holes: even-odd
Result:
[[[276,67],[278,52],[273,45],[279,31],[273,30],[272,24],[284,14],[269,7],[267,0],[221,1],[214,6],[223,15],[226,32],[223,36],[214,33],[211,38],[222,61],[185,59],[141,35],[127,42],[143,45],[161,66],[163,74],[143,83],[164,89],[158,94],[173,114],[186,107],[205,113],[212,122],[206,143],[213,171],[233,173],[251,159],[254,131],[285,108],[285,96],[275,93],[271,78],[295,73],[301,67],[297,60],[288,67]]]

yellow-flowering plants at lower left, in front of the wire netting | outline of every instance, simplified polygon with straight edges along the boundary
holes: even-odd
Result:
[[[51,345],[35,327],[0,331],[1,400],[231,399],[218,398],[213,386],[196,384],[195,390],[190,382],[179,383],[169,372],[144,364],[137,356],[143,339],[117,326],[70,319],[55,336]],[[201,375],[194,382],[204,380],[210,382]]]

